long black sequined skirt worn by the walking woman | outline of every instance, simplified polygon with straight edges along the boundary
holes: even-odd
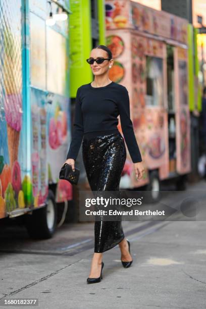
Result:
[[[119,191],[126,148],[119,131],[85,133],[82,157],[92,191]],[[92,134],[93,133],[93,134]],[[94,252],[104,252],[124,239],[121,221],[95,221]]]

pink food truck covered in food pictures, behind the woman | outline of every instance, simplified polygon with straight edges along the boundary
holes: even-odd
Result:
[[[145,168],[137,181],[127,149],[120,188],[143,186],[157,201],[161,181],[174,179],[177,188],[184,189],[185,176],[191,171],[191,25],[129,0],[106,0],[105,6],[106,44],[114,58],[109,77],[128,89],[130,116]],[[122,132],[121,121],[118,128]]]

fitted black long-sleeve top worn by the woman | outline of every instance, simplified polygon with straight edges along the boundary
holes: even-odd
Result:
[[[91,83],[77,89],[74,130],[67,159],[76,160],[84,133],[114,131],[120,115],[122,132],[133,163],[141,162],[141,154],[130,119],[127,88],[115,82],[102,87]]]

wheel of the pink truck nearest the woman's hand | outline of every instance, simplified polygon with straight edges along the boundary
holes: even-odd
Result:
[[[145,188],[147,193],[146,202],[155,203],[160,200],[160,179],[158,171],[151,171],[149,174],[149,183]]]

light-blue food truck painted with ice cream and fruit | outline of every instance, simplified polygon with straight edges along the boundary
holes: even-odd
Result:
[[[56,203],[72,199],[72,185],[59,180],[71,138],[68,19],[46,25],[46,0],[0,6],[0,218],[30,212],[30,236],[50,237]]]

